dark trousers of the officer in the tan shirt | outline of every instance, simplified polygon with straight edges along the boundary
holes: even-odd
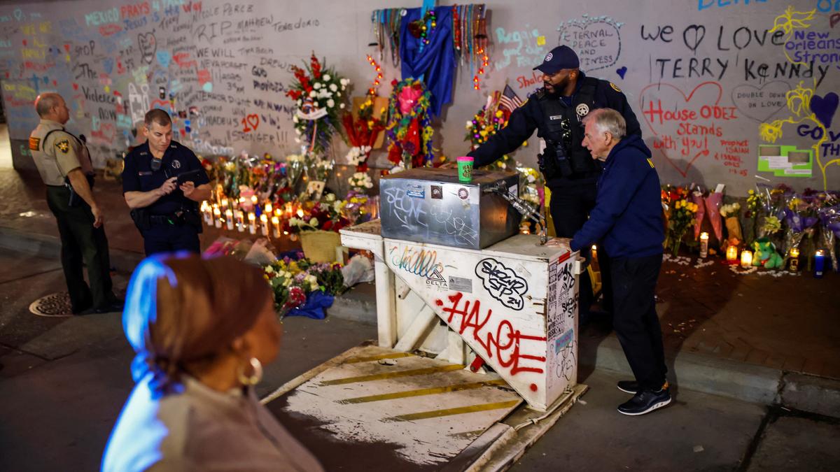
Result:
[[[111,260],[105,227],[93,228],[93,213],[86,202],[68,206],[65,186],[47,186],[47,205],[55,215],[61,238],[61,267],[70,292],[73,312],[90,307],[108,307],[116,301],[111,282]],[[87,265],[85,283],[83,267]]]

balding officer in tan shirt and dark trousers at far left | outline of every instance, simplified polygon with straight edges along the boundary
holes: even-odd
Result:
[[[61,237],[61,266],[70,291],[72,311],[116,312],[122,302],[113,295],[108,239],[102,210],[93,197],[93,166],[87,147],[64,129],[70,110],[57,93],[35,99],[41,118],[29,135],[29,150],[47,186],[47,204]],[[82,273],[87,265],[87,286]]]

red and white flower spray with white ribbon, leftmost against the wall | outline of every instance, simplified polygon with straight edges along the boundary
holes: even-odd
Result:
[[[307,147],[307,153],[323,155],[329,149],[333,134],[343,133],[340,127],[344,95],[349,81],[333,69],[324,68],[312,53],[304,70],[292,67],[295,81],[286,96],[296,101],[297,111],[291,121],[295,125],[295,141]]]

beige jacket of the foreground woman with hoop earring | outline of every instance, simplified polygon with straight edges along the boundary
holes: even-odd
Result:
[[[134,470],[323,470],[249,389],[223,393],[192,377],[184,391],[153,399],[140,381],[102,458],[105,472]]]

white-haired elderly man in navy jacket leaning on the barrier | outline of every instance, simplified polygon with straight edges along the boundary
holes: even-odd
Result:
[[[612,324],[636,377],[618,382],[619,390],[633,394],[618,412],[643,415],[671,401],[654,302],[664,240],[659,176],[643,140],[636,134],[625,136],[621,113],[599,108],[584,124],[583,145],[603,173],[595,208],[570,247],[580,250],[599,243],[610,258]]]

